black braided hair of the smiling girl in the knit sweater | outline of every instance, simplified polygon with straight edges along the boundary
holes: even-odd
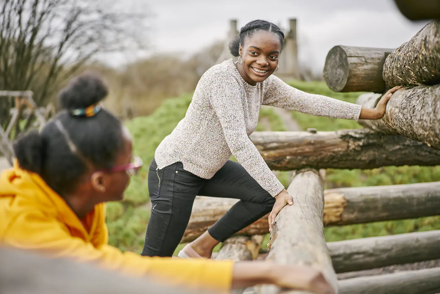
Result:
[[[240,33],[229,42],[229,51],[231,51],[232,56],[238,56],[238,46],[242,44],[244,45],[245,39],[248,37],[252,37],[254,33],[260,30],[265,30],[266,32],[276,33],[279,36],[279,42],[281,44],[281,49],[284,48],[284,33],[280,28],[273,24],[272,22],[268,22],[266,20],[253,20],[248,22],[246,26],[243,26],[240,29]]]

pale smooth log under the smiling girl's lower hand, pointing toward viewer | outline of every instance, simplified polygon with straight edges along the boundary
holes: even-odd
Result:
[[[319,269],[337,293],[337,277],[324,238],[323,179],[315,170],[298,171],[287,191],[294,205],[286,205],[276,216],[266,260]],[[258,288],[261,294],[279,291],[275,286]]]

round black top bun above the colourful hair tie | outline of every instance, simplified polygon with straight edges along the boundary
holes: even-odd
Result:
[[[94,73],[84,73],[73,78],[58,94],[61,107],[72,112],[97,104],[108,94],[103,79]]]

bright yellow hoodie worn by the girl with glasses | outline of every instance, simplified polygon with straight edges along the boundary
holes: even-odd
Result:
[[[142,257],[108,245],[105,204],[96,205],[83,224],[40,176],[17,163],[0,175],[0,245],[153,276],[190,289],[227,292],[231,287],[232,261]]]

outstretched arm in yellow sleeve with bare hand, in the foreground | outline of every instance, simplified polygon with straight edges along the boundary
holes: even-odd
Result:
[[[262,283],[275,284],[316,294],[334,294],[318,270],[270,262],[211,261],[169,257],[143,257],[132,252],[103,245],[95,248],[69,229],[42,212],[19,215],[2,237],[2,245],[34,251],[51,258],[67,258],[94,264],[106,270],[132,276],[150,277],[159,283],[188,290],[226,293],[231,287],[241,288]]]

